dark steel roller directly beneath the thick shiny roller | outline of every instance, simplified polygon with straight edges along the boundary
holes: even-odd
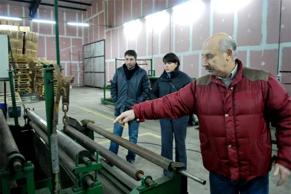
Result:
[[[29,125],[32,127],[32,129],[35,130],[36,134],[39,135],[47,145],[49,145],[48,135],[45,134],[45,132],[42,129],[40,129],[34,122],[30,121]],[[67,171],[68,175],[75,181],[76,177],[73,174],[73,171],[75,169],[75,162],[62,149],[59,148],[58,152],[60,163]],[[95,183],[90,176],[84,177],[82,181],[86,184],[85,185],[86,188],[92,188],[95,186]]]

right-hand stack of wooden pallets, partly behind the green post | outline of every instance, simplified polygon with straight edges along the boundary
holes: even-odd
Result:
[[[38,97],[45,97],[45,86],[44,86],[44,69],[48,68],[41,64],[45,63],[48,65],[55,64],[55,61],[47,61],[45,58],[37,58],[32,61],[34,66],[34,88],[35,88],[35,95]],[[56,72],[53,70],[53,79],[56,80]],[[53,83],[54,85],[54,92],[56,94],[57,89],[57,82]]]

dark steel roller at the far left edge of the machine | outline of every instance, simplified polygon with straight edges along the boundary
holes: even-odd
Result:
[[[3,149],[5,153],[7,153],[6,154],[7,158],[11,156],[12,154],[19,154],[19,149],[16,145],[16,142],[9,129],[9,126],[5,120],[4,113],[2,112],[1,109],[0,109],[0,140],[1,140],[1,149]],[[13,161],[10,162],[10,164],[13,165],[13,169],[16,172],[21,171],[24,166],[23,161],[20,161],[17,158],[13,159]]]

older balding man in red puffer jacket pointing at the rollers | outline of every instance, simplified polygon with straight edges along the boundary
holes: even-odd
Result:
[[[276,127],[277,186],[290,176],[291,97],[270,73],[244,67],[236,53],[229,35],[210,36],[202,48],[209,75],[176,93],[134,105],[114,122],[124,125],[133,119],[177,119],[194,113],[211,194],[268,194],[270,119]]]

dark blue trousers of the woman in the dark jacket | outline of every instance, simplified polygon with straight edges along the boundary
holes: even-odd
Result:
[[[175,161],[185,164],[184,169],[187,169],[187,154],[186,154],[186,133],[189,116],[184,116],[179,119],[166,118],[161,119],[161,135],[162,135],[162,153],[161,155],[169,160],[173,160],[173,134],[175,136]],[[164,175],[169,175],[170,172],[163,170]]]

